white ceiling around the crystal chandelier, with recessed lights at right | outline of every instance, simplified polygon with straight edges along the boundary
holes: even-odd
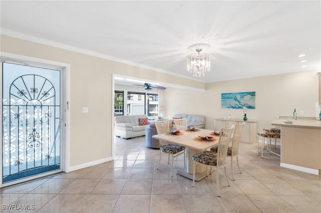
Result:
[[[320,0],[1,0],[1,28],[211,82],[321,69],[320,10]],[[195,78],[187,47],[201,42],[211,71]]]

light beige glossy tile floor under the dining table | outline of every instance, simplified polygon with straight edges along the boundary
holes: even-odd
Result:
[[[222,170],[218,197],[215,172],[193,188],[192,180],[171,177],[166,155],[156,170],[159,150],[147,148],[144,136],[115,141],[113,161],[2,188],[1,212],[321,212],[321,176],[280,167],[266,150],[261,158],[256,144],[240,143],[242,173],[234,162],[232,181],[228,163],[231,186]],[[5,209],[10,204],[35,209]]]

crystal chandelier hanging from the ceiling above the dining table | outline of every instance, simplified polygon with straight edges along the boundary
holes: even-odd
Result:
[[[187,48],[194,52],[187,57],[187,70],[192,72],[195,77],[204,76],[206,71],[211,70],[210,54],[203,51],[210,47],[211,45],[207,43],[196,43]]]

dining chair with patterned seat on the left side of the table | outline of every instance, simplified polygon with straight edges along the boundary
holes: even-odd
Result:
[[[168,133],[170,131],[170,122],[169,119],[165,120],[155,120],[155,126],[157,130],[157,134]],[[185,146],[175,144],[175,143],[166,143],[163,140],[159,140],[159,161],[157,165],[157,169],[159,167],[159,163],[161,162],[162,152],[167,153],[169,155],[168,163],[170,163],[170,156],[172,156],[172,176],[174,173],[174,157],[178,157],[181,154],[184,154],[184,167],[185,163]],[[176,166],[175,166],[176,169]]]

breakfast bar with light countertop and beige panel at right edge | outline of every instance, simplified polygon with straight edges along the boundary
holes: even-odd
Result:
[[[292,123],[282,118],[270,123],[281,127],[280,166],[321,175],[321,121],[298,117]]]

